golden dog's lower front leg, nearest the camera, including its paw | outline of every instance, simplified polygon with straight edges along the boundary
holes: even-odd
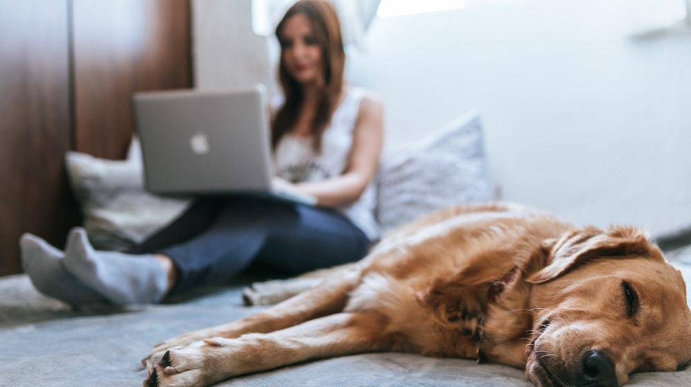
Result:
[[[311,359],[387,350],[386,320],[339,313],[266,334],[214,337],[169,350],[144,386],[207,386]]]

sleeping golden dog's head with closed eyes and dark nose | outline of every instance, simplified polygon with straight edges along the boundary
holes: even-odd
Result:
[[[538,386],[621,386],[632,372],[691,360],[681,274],[630,227],[588,227],[545,241],[533,283],[527,376]]]

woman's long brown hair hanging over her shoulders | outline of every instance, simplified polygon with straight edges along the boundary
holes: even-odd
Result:
[[[311,128],[314,151],[319,153],[321,152],[321,135],[331,121],[331,115],[339,102],[339,96],[343,89],[345,52],[343,51],[341,25],[336,10],[328,1],[300,0],[285,12],[285,16],[278,23],[276,27],[278,41],[282,41],[281,35],[285,21],[297,14],[305,15],[310,20],[314,39],[316,39],[321,50],[323,79],[318,86],[319,96]],[[285,103],[276,112],[272,123],[272,145],[274,149],[283,135],[294,128],[304,101],[302,85],[288,73],[283,55],[281,55],[281,65],[278,68],[278,78],[283,87]]]

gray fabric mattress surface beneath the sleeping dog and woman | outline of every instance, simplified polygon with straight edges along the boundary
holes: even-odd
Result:
[[[685,257],[691,257],[687,249]],[[683,256],[681,258],[684,258]],[[688,259],[691,263],[691,259]],[[679,263],[691,283],[691,265]],[[691,286],[690,286],[691,288]],[[23,275],[0,279],[0,386],[140,386],[139,360],[157,343],[256,311],[240,286],[125,310],[73,311],[33,290]],[[630,386],[691,386],[691,369],[633,375]],[[531,386],[523,372],[461,359],[381,353],[340,357],[239,377],[219,386]]]

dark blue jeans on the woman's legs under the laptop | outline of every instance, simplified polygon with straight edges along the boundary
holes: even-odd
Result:
[[[178,293],[228,281],[250,263],[299,274],[357,261],[369,247],[358,227],[330,209],[265,198],[204,198],[129,252],[169,256]]]

